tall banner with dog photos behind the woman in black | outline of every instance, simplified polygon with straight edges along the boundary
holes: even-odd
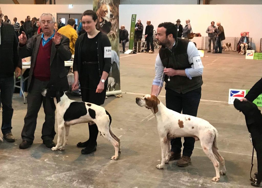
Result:
[[[112,46],[112,68],[108,76],[106,95],[119,94],[119,4],[120,0],[93,0],[93,10],[97,15],[97,30],[107,34]]]

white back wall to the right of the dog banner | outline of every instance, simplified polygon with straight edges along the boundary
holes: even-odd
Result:
[[[241,16],[240,10],[246,10],[247,14]],[[190,19],[194,33],[207,36],[206,29],[211,21],[221,22],[226,37],[239,37],[243,31],[248,31],[252,37],[252,47],[259,50],[260,38],[262,38],[262,5],[120,5],[119,25],[125,25],[130,33],[132,14],[137,14],[144,25],[146,20],[151,20],[156,30],[159,23],[175,22]]]

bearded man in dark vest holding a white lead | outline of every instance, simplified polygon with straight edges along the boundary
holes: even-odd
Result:
[[[158,96],[165,81],[166,107],[178,113],[183,111],[183,114],[196,116],[204,68],[198,50],[193,42],[177,38],[177,28],[171,22],[159,24],[156,39],[162,47],[156,57],[151,95]],[[184,137],[181,157],[181,138],[172,139],[170,161],[179,160],[178,166],[188,166],[194,143],[194,138]]]

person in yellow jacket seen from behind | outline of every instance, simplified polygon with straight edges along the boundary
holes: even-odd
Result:
[[[61,27],[57,32],[63,34],[70,40],[70,51],[73,54],[75,54],[75,41],[77,40],[77,31],[74,30],[75,26],[75,19],[69,18],[67,21],[67,25]]]

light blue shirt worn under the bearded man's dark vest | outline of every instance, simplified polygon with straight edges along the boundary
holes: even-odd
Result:
[[[174,43],[174,45],[175,45],[175,43]],[[193,59],[192,58],[194,56],[199,56],[199,53],[198,53],[198,50],[195,47],[195,44],[193,42],[189,42],[188,43],[187,55],[188,55],[189,64],[192,63],[192,65],[191,65],[191,68],[186,68],[185,69],[185,74],[187,75],[188,79],[191,80],[192,77],[201,76],[202,73],[203,73],[203,68],[194,69],[194,64],[193,64]],[[157,56],[156,56],[155,71],[156,71],[156,74],[155,74],[155,79],[153,80],[153,85],[157,85],[157,86],[163,87],[165,74],[163,75],[164,66],[163,66],[163,63],[162,63],[162,61],[160,59],[159,54],[157,54]],[[162,75],[163,75],[163,78],[162,78]],[[162,80],[161,80],[161,78],[162,78]]]

